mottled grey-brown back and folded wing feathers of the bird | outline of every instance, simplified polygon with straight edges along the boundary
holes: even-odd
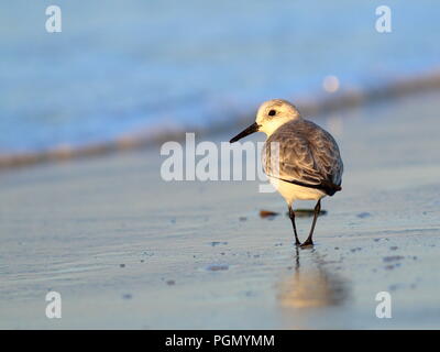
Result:
[[[271,155],[272,142],[279,143],[278,175],[276,155]],[[330,133],[310,121],[301,119],[282,125],[267,139],[262,157],[268,176],[322,188],[331,195],[340,190],[343,164],[338,144]]]

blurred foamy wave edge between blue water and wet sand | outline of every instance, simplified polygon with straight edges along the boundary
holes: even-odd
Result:
[[[363,105],[373,105],[411,95],[424,95],[440,89],[440,70],[430,69],[416,76],[403,76],[394,80],[383,81],[375,87],[346,88],[336,94],[317,92],[311,96],[298,97],[293,102],[305,117],[326,117],[346,109],[355,109]],[[0,172],[7,168],[23,167],[40,163],[61,162],[72,158],[96,157],[117,152],[151,147],[167,141],[185,140],[185,133],[197,133],[210,136],[231,131],[240,124],[249,124],[253,120],[252,113],[238,116],[227,122],[215,123],[209,128],[198,127],[167,127],[148,131],[146,129],[133,134],[123,134],[112,141],[74,146],[63,144],[50,150],[19,153],[0,153]]]

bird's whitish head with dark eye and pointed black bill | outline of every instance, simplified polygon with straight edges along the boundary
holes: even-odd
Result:
[[[288,121],[300,119],[299,111],[294,105],[283,99],[273,99],[263,102],[256,112],[256,119],[248,129],[235,135],[230,142],[237,142],[254,132],[274,133]]]

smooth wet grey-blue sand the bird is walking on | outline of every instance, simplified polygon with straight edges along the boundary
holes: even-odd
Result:
[[[2,172],[0,328],[439,328],[439,98],[316,120],[345,173],[312,250],[293,246],[279,195],[165,183],[154,148]],[[62,319],[45,317],[50,290]],[[375,316],[384,290],[392,319]]]

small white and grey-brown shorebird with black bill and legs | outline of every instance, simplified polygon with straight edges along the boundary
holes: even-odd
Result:
[[[258,131],[267,135],[262,151],[264,173],[287,202],[295,244],[312,245],[321,199],[342,189],[343,164],[338,144],[329,132],[304,120],[295,106],[282,99],[264,102],[255,123],[230,143]],[[302,244],[296,231],[295,200],[317,200],[310,233]]]

